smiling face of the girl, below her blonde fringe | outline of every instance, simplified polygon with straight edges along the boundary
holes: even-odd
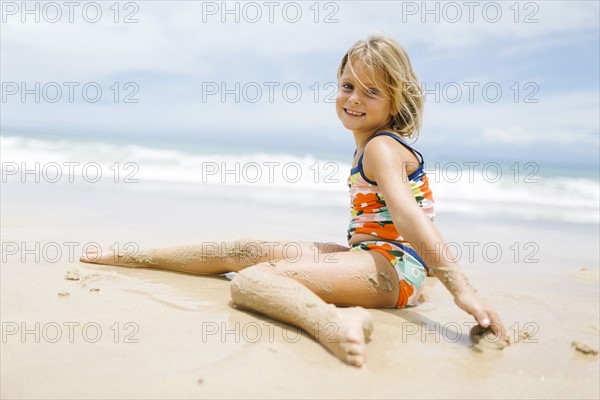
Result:
[[[355,136],[371,136],[382,128],[389,128],[392,114],[392,103],[385,96],[381,80],[373,81],[363,66],[359,63],[353,65],[356,77],[347,65],[339,80],[338,94],[336,97],[336,112],[346,129],[351,130]]]

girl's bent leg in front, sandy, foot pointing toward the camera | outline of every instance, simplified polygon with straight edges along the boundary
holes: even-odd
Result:
[[[236,306],[303,329],[354,366],[365,362],[365,343],[373,329],[371,316],[361,307],[334,304],[394,307],[398,295],[396,271],[372,251],[263,263],[244,269],[231,282]]]

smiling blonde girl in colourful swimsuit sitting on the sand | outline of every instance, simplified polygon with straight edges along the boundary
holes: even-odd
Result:
[[[354,366],[364,364],[373,329],[363,307],[417,304],[427,273],[439,278],[479,325],[504,337],[498,315],[479,298],[457,262],[442,256],[445,242],[432,223],[423,157],[404,140],[417,135],[423,110],[406,52],[388,37],[371,36],[344,55],[337,76],[337,115],[356,142],[348,179],[350,247],[294,243],[302,253],[292,262],[283,254],[286,243],[243,240],[135,255],[90,249],[81,261],[194,274],[239,272],[231,282],[237,307],[303,329]]]

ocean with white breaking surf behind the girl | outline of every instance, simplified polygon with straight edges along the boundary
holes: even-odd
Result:
[[[10,190],[7,184],[16,182],[114,183],[150,194],[165,190],[168,184],[169,190],[198,195],[208,187],[213,192],[217,188],[223,198],[265,205],[320,210],[348,207],[351,153],[315,156],[303,149],[284,151],[276,146],[244,150],[216,140],[185,146],[133,142],[2,134],[2,184]],[[597,168],[426,160],[438,214],[503,221],[600,222]],[[242,187],[244,199],[236,190]]]

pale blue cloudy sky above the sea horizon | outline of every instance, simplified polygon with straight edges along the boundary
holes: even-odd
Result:
[[[597,1],[2,1],[2,134],[351,151],[336,70],[401,43],[442,159],[597,166]]]

